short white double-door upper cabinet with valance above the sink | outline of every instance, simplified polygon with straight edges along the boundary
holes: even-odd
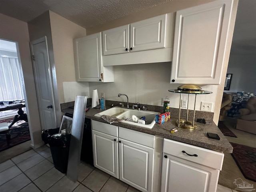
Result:
[[[173,34],[174,13],[106,30],[103,65],[170,62]]]

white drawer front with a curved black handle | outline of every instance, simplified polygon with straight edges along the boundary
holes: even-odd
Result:
[[[182,151],[185,151],[187,154]],[[218,170],[222,169],[224,154],[220,152],[215,152],[168,139],[164,139],[163,152],[204,166],[212,167]],[[189,156],[188,154],[196,154],[197,156]]]

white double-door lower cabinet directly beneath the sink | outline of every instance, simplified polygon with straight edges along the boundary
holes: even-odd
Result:
[[[160,191],[162,138],[92,120],[92,142],[95,167],[142,192]]]

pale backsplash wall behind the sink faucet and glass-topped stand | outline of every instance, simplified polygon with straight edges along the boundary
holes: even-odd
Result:
[[[118,93],[127,94],[129,102],[162,106],[162,98],[170,98],[170,107],[178,108],[180,94],[168,92],[181,84],[170,84],[171,62],[136,64],[114,66],[114,82],[98,83],[89,82],[90,97],[92,90],[98,89],[98,95],[105,93],[106,100],[116,100],[126,103],[126,97],[118,97]],[[202,90],[210,90],[213,93],[198,95],[196,110],[200,110],[202,102],[214,103],[216,99],[216,85],[200,85]],[[182,99],[187,99],[188,94],[183,94]],[[194,95],[190,95],[189,109],[194,108]],[[65,100],[66,102],[66,100]]]

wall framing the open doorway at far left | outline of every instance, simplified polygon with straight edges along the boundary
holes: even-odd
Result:
[[[24,78],[24,94],[28,114],[28,125],[30,129],[31,144],[33,147],[40,145],[41,124],[39,109],[36,98],[36,87],[29,47],[28,24],[12,17],[0,14],[0,38],[18,42],[20,61]]]

